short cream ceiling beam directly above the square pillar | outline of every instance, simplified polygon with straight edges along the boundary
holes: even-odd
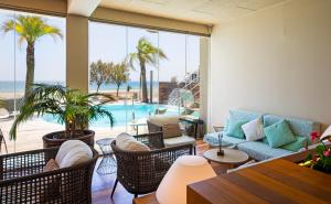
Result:
[[[102,0],[68,0],[67,13],[90,17]]]

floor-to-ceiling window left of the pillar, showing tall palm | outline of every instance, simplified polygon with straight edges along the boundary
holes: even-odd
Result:
[[[58,32],[38,30],[39,23]],[[0,10],[0,128],[9,152],[42,148],[42,136],[62,125],[34,117],[19,127],[15,141],[9,131],[28,84],[65,85],[65,19]]]

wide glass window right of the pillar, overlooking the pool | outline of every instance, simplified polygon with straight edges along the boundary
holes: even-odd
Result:
[[[94,122],[97,138],[146,132],[156,114],[199,117],[199,66],[200,36],[89,22],[89,92],[115,98],[105,105],[115,125]],[[125,79],[117,84],[115,72]]]

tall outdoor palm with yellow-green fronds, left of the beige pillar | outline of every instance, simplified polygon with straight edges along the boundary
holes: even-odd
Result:
[[[51,35],[52,37],[63,37],[61,30],[49,25],[45,19],[35,15],[18,15],[15,19],[6,21],[1,29],[2,32],[8,33],[14,31],[19,35],[19,44],[28,43],[26,46],[26,75],[25,75],[25,94],[32,90],[34,83],[34,45],[40,37]]]

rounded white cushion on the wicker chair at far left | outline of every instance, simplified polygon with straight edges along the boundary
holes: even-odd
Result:
[[[68,140],[62,143],[55,157],[60,168],[84,163],[93,158],[90,148],[81,140]]]

